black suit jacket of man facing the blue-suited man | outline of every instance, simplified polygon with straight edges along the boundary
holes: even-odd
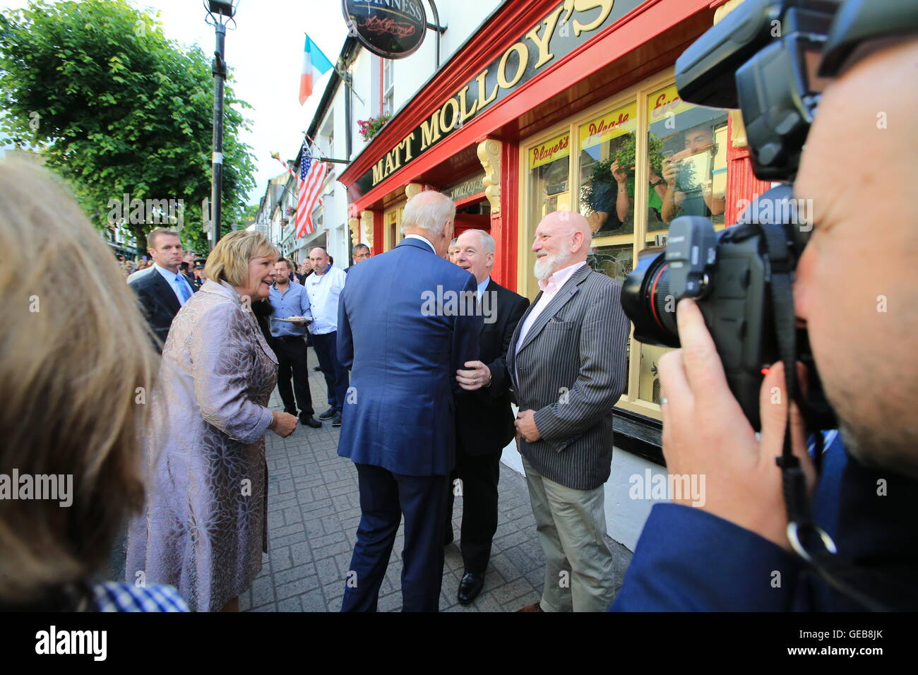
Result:
[[[510,408],[507,349],[529,300],[500,286],[487,284],[483,309],[494,311],[496,321],[484,323],[479,335],[479,360],[491,370],[491,386],[456,395],[456,437],[466,455],[490,455],[503,450],[516,433]],[[487,305],[490,302],[490,306]],[[486,321],[488,318],[486,317]]]

